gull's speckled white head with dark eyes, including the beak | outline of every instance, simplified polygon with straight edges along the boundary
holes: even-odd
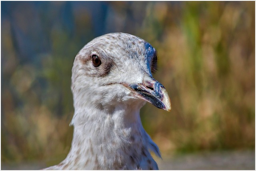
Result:
[[[95,38],[77,54],[72,68],[74,106],[136,104],[145,101],[170,111],[168,93],[152,73],[156,50],[145,40],[125,33]],[[86,104],[84,104],[86,103]]]

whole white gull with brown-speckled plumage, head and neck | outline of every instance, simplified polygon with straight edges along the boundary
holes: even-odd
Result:
[[[110,33],[86,44],[72,68],[71,149],[46,170],[157,170],[150,152],[160,151],[140,119],[146,101],[171,110],[166,89],[152,77],[156,64],[156,49],[137,36]]]

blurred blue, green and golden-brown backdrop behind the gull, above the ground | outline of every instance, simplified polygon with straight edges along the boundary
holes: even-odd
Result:
[[[158,50],[172,111],[147,103],[141,119],[163,156],[255,150],[254,1],[1,2],[2,165],[66,157],[74,57],[109,32]]]

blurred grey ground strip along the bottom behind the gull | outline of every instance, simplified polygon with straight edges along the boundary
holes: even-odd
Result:
[[[255,151],[219,151],[197,154],[163,156],[156,159],[160,170],[255,170]],[[43,162],[6,164],[2,170],[40,169],[46,167]]]

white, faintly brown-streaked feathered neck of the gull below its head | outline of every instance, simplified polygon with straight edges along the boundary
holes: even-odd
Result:
[[[76,108],[72,147],[66,160],[86,164],[84,168],[88,169],[124,169],[127,161],[140,160],[132,156],[151,156],[146,144],[148,135],[140,120],[141,105],[138,101],[131,105]]]

